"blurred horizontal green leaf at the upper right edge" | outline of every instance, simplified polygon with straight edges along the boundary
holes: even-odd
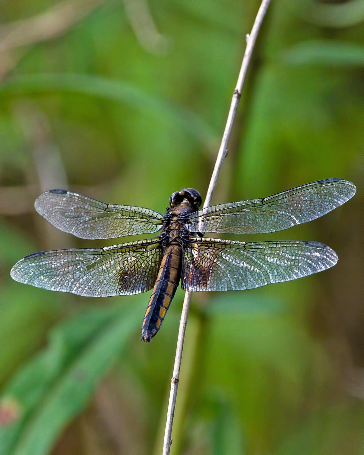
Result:
[[[364,49],[343,41],[309,40],[289,47],[281,58],[287,65],[363,66]]]

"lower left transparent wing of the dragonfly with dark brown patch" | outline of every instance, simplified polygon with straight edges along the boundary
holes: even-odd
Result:
[[[37,288],[108,297],[151,289],[161,260],[159,239],[151,239],[106,248],[33,253],[20,259],[10,274]]]

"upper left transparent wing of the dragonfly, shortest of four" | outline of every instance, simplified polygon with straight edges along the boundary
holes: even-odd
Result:
[[[41,194],[35,201],[35,209],[61,231],[89,239],[152,234],[163,223],[163,215],[154,210],[105,204],[66,190]]]

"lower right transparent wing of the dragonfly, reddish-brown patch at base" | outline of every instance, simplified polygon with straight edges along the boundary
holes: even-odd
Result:
[[[183,254],[186,291],[237,291],[294,280],[333,267],[334,250],[317,242],[233,242],[190,238]]]

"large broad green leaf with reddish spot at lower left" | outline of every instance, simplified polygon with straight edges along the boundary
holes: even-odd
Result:
[[[139,313],[137,306],[127,315],[119,307],[90,310],[52,330],[48,348],[5,389],[0,409],[10,421],[0,429],[0,454],[49,452],[135,332]]]

